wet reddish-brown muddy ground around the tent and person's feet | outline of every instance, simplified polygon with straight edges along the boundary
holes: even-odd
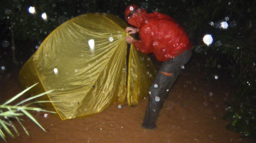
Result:
[[[155,65],[159,65],[156,64]],[[22,89],[18,84],[19,69],[2,76],[0,102]],[[8,78],[7,78],[7,77]],[[208,77],[208,78],[207,78]],[[27,118],[23,124],[30,133],[14,121],[20,135],[9,143],[253,143],[241,134],[226,130],[226,100],[231,96],[230,81],[215,80],[206,75],[196,59],[182,70],[166,98],[157,120],[157,128],[142,127],[148,98],[136,107],[127,103],[119,109],[115,103],[103,112],[82,119],[61,121],[50,113],[31,112],[46,129],[44,132]],[[24,95],[28,96],[28,95]],[[45,117],[47,114],[47,117]],[[0,139],[0,142],[3,142]]]

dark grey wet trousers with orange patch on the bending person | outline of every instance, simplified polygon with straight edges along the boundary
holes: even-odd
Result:
[[[190,60],[192,48],[173,59],[164,61],[149,88],[149,102],[143,126],[154,128],[160,109],[171,87],[181,73],[182,67]]]

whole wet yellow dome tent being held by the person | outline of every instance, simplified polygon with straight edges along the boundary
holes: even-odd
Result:
[[[54,89],[38,100],[58,101],[42,106],[56,111],[62,120],[99,113],[116,101],[124,104],[126,98],[128,105],[138,104],[148,95],[156,72],[150,58],[133,45],[126,67],[127,26],[105,13],[66,21],[23,65],[20,84],[26,88],[39,83],[31,94]]]

